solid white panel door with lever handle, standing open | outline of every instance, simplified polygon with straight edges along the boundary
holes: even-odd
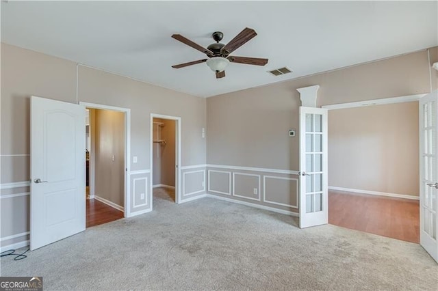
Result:
[[[31,97],[31,250],[85,230],[85,113]]]

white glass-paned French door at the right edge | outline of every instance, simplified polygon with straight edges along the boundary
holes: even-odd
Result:
[[[420,99],[420,245],[438,262],[438,92]]]

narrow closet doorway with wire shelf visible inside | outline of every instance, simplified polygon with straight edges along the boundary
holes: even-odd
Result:
[[[180,117],[151,114],[153,204],[179,203]]]

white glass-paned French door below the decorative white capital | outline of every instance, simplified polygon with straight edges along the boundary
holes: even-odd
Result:
[[[327,109],[300,107],[300,227],[329,222]]]

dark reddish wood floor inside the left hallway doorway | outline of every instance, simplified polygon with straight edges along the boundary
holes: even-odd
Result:
[[[86,199],[87,201],[87,222],[86,227],[115,221],[123,218],[123,212],[107,206],[96,199]]]

